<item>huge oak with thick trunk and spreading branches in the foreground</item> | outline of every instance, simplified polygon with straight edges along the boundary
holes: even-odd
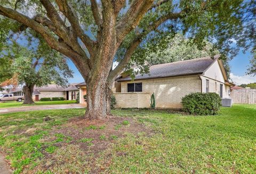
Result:
[[[35,30],[52,49],[73,61],[87,84],[85,116],[94,119],[110,114],[111,85],[141,42],[161,32],[182,31],[198,45],[214,38],[227,46],[241,31],[242,4],[242,0],[2,0],[0,14],[18,21],[22,30]],[[120,51],[119,64],[112,69]]]

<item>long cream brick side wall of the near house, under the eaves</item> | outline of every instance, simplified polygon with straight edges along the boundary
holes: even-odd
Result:
[[[198,75],[166,77],[159,79],[138,80],[121,82],[122,93],[127,92],[127,83],[142,82],[142,92],[155,94],[156,108],[181,108],[181,98],[191,92],[201,92],[201,80]],[[125,97],[127,96],[127,97]],[[129,95],[124,95],[122,100],[130,100]],[[150,100],[149,97],[149,100]],[[149,102],[148,100],[148,102]],[[119,107],[122,107],[119,105]]]

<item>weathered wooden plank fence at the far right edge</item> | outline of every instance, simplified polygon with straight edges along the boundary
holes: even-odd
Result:
[[[233,103],[256,103],[256,90],[253,89],[237,89],[231,91]]]

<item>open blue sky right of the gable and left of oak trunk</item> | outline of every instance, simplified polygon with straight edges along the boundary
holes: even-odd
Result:
[[[239,51],[239,54],[230,60],[230,79],[237,85],[247,84],[256,82],[256,76],[246,75],[247,68],[250,65],[250,59],[252,55],[250,51],[247,51],[245,54],[242,51]],[[79,83],[84,82],[82,75],[78,72],[76,66],[68,61],[68,64],[71,69],[74,71],[73,79],[69,79],[69,83]]]

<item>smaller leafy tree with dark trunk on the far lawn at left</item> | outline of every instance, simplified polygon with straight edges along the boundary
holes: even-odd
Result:
[[[34,103],[34,86],[50,83],[66,85],[68,78],[73,77],[73,71],[68,68],[66,58],[46,45],[44,40],[38,40],[36,49],[28,49],[13,41],[8,49],[1,53],[0,60],[6,60],[3,66],[8,67],[9,76],[4,76],[4,85],[22,85],[24,104]],[[7,60],[12,60],[11,63]]]

